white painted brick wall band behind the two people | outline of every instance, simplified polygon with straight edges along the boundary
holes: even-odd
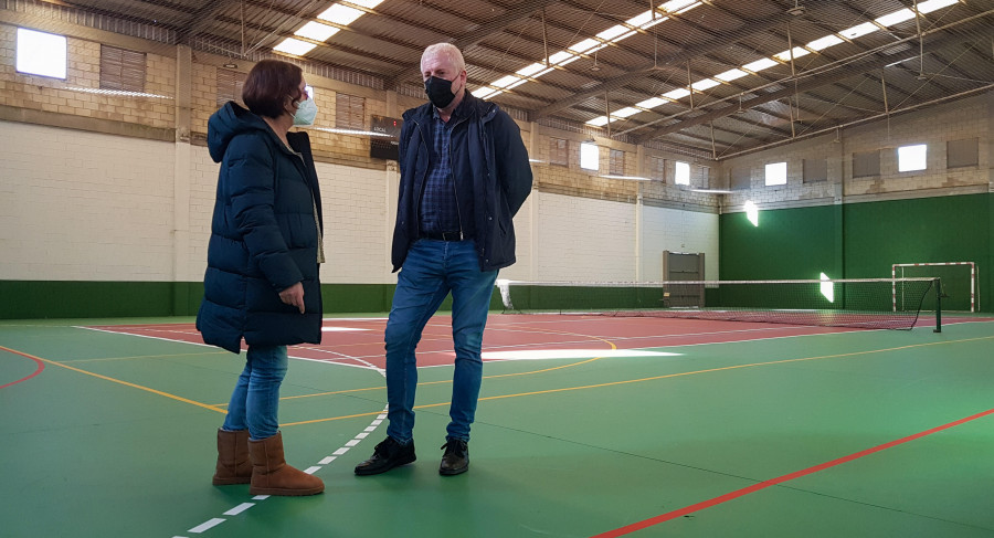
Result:
[[[0,122],[0,279],[197,282],[219,165],[200,146]],[[319,162],[325,283],[389,284],[393,169]],[[186,205],[183,205],[186,204]],[[706,252],[718,215],[532,191],[515,218],[519,281],[658,279],[664,250]],[[636,253],[641,234],[643,252]]]

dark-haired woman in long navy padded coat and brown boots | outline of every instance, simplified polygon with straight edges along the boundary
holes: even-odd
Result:
[[[321,341],[321,202],[306,133],[317,108],[300,67],[263,60],[242,91],[208,122],[208,148],[221,162],[204,297],[203,341],[247,345],[224,425],[214,485],[251,484],[253,495],[314,495],[320,478],[286,464],[277,421],[286,346]]]

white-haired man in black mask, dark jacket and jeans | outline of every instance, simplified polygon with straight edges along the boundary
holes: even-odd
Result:
[[[421,56],[431,103],[404,113],[400,199],[393,230],[398,275],[387,321],[387,439],[356,467],[372,475],[414,455],[414,350],[425,324],[452,293],[455,347],[451,422],[438,472],[469,468],[469,424],[483,378],[484,326],[497,271],[515,263],[512,218],[531,191],[518,126],[497,105],[466,92],[466,64],[450,43]]]

